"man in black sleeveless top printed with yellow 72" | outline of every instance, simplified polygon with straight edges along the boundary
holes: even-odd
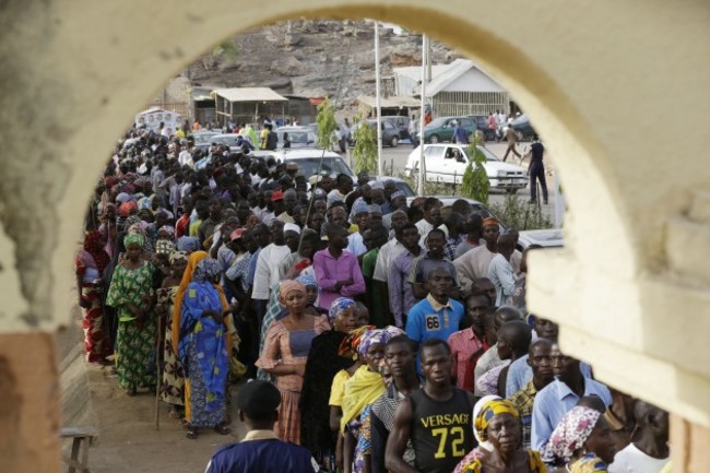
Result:
[[[419,351],[426,382],[402,400],[387,441],[384,465],[393,473],[450,473],[474,446],[470,392],[451,385],[451,348],[429,339]],[[414,466],[402,459],[407,440]]]

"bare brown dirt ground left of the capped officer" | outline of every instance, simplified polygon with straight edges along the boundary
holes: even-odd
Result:
[[[201,430],[196,440],[167,415],[161,402],[159,429],[155,428],[155,393],[139,391],[130,398],[118,387],[108,367],[88,367],[88,386],[98,421],[99,438],[90,450],[92,473],[203,472],[212,453],[246,434],[232,403],[232,434]],[[233,401],[236,387],[232,389]]]

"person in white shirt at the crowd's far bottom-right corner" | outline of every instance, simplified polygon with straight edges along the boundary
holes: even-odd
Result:
[[[668,413],[646,401],[636,401],[634,416],[634,441],[616,453],[608,472],[659,473],[671,460]]]

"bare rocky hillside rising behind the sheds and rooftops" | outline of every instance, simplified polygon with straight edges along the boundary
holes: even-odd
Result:
[[[234,54],[208,54],[189,68],[196,85],[267,86],[283,94],[329,95],[348,106],[375,95],[375,26],[365,21],[296,20],[235,36]],[[228,48],[227,48],[228,49]],[[433,43],[431,62],[460,57]],[[392,68],[422,63],[422,36],[380,26],[382,76]]]

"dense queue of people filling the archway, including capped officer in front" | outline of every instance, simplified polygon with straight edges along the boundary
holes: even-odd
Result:
[[[667,414],[529,314],[518,232],[393,180],[133,128],[76,256],[87,360],[158,392],[208,471],[659,472]],[[247,151],[247,150],[244,150]],[[187,154],[187,155],[186,155]],[[245,382],[245,379],[248,380]]]

